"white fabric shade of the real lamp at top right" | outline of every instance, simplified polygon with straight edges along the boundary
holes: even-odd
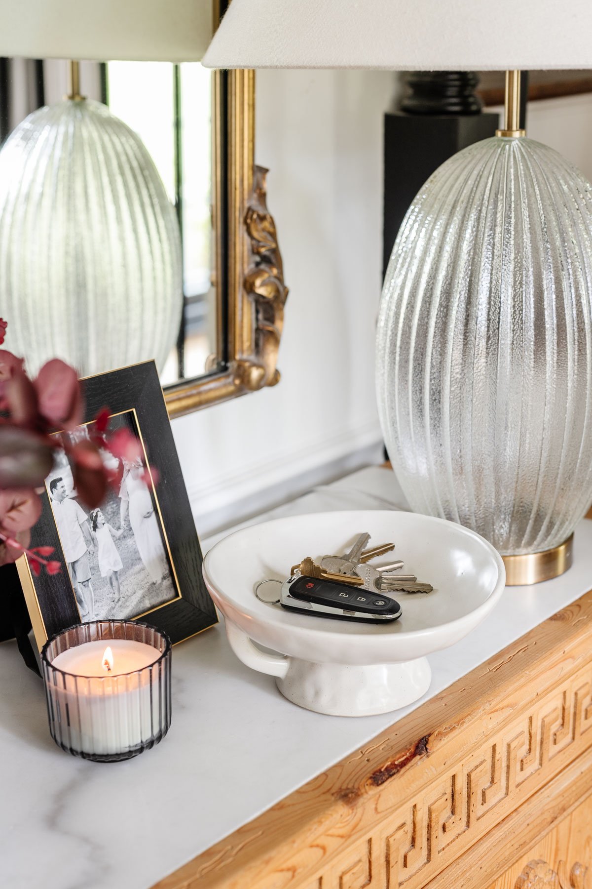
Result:
[[[592,0],[233,0],[208,68],[592,68]]]

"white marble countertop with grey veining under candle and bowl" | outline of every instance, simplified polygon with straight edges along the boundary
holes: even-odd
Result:
[[[273,515],[402,502],[392,473],[371,468]],[[583,521],[571,571],[536,587],[506,589],[469,637],[430,656],[433,679],[422,701],[591,587],[592,522]],[[0,885],[148,889],[422,701],[361,719],[299,709],[281,697],[272,677],[234,657],[217,626],[174,649],[173,716],[164,741],[127,762],[95,764],[51,741],[41,680],[16,645],[4,643]]]

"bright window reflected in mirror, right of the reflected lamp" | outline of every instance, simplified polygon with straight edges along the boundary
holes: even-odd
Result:
[[[183,250],[183,313],[163,386],[199,377],[216,352],[212,285],[211,72],[199,62],[115,61],[106,66],[106,100],[146,145],[175,204]]]

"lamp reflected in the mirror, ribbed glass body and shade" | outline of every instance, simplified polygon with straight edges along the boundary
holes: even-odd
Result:
[[[212,0],[0,0],[0,55],[200,60]],[[183,309],[175,210],[135,132],[81,94],[39,108],[0,151],[0,308],[29,372],[61,357],[81,375],[155,358]]]

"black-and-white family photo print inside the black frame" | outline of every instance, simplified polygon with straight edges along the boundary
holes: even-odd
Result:
[[[74,445],[91,425],[63,435]],[[121,427],[138,436],[132,411],[111,418]],[[146,459],[101,457],[114,484],[97,509],[79,503],[64,451],[45,481],[81,621],[135,618],[178,595]]]

